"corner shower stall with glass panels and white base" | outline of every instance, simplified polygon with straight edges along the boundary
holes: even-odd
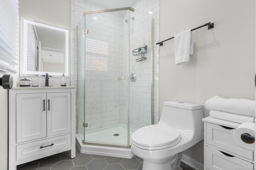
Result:
[[[77,135],[82,153],[131,158],[153,123],[153,19],[131,7],[85,12],[77,26]]]

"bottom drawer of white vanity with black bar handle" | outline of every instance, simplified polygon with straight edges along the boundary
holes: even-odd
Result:
[[[16,160],[71,146],[71,135],[62,135],[16,146]],[[71,147],[70,147],[71,149]]]

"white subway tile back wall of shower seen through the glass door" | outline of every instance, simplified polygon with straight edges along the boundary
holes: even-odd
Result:
[[[122,14],[85,16],[86,131],[122,123]]]

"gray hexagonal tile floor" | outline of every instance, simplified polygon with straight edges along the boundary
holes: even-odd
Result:
[[[70,158],[70,151],[62,152],[17,166],[17,170],[142,170],[143,160],[80,154],[76,149],[76,158]],[[193,170],[182,163],[184,170]]]

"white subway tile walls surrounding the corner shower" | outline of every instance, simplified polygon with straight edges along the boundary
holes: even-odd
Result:
[[[128,57],[127,13],[97,14],[86,16],[89,34],[86,35],[86,70],[83,63],[77,63],[77,45],[83,46],[79,39],[77,44],[76,27],[83,18],[83,13],[102,10],[100,6],[84,0],[71,0],[71,85],[77,86],[77,76],[86,76],[86,105],[79,104],[78,113],[86,112],[86,130],[97,129],[118,123],[127,124],[127,90],[128,68],[137,75],[136,82],[130,82],[130,126],[138,129],[151,124],[151,48],[154,57],[154,123],[159,121],[159,0],[138,0],[134,4],[134,21],[130,20],[130,55]],[[149,12],[152,14],[149,14]],[[154,18],[153,47],[151,44],[151,19]],[[82,24],[81,24],[82,25]],[[80,42],[81,40],[81,42]],[[136,62],[138,56],[132,56],[132,50],[148,45],[148,59]],[[80,53],[83,53],[82,51]],[[83,54],[80,54],[83,55]],[[80,60],[80,59],[79,59]],[[77,64],[81,70],[77,70]],[[78,73],[79,72],[79,73]],[[126,76],[126,80],[117,81],[117,77]],[[79,98],[84,98],[83,82],[78,83]],[[84,108],[85,107],[85,108]],[[79,119],[78,129],[83,131]]]

